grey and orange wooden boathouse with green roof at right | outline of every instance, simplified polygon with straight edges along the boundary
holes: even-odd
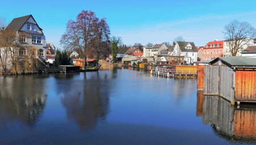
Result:
[[[204,95],[256,102],[256,58],[218,57],[204,66]]]

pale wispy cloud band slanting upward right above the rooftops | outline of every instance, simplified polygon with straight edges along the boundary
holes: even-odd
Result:
[[[181,35],[186,40],[195,42],[196,45],[205,45],[210,40],[223,39],[222,29],[230,20],[246,20],[256,24],[256,20],[251,19],[255,17],[255,14],[256,11],[229,15],[203,15],[113,31],[113,35],[121,36],[126,44],[171,42],[176,36]]]

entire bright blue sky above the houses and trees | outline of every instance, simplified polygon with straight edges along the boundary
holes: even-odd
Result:
[[[172,42],[183,36],[197,46],[224,39],[222,30],[233,19],[247,21],[256,27],[255,0],[225,1],[5,1],[0,18],[6,24],[13,18],[32,14],[43,28],[48,43],[61,47],[59,40],[69,19],[82,10],[92,10],[106,18],[114,36],[123,43]]]

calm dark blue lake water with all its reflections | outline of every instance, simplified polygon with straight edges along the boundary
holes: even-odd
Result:
[[[255,144],[256,107],[128,69],[0,77],[0,144]]]

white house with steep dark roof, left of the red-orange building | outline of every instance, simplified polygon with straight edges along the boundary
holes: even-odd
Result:
[[[197,49],[193,42],[177,42],[172,52],[174,56],[184,56],[185,63],[197,61]]]

